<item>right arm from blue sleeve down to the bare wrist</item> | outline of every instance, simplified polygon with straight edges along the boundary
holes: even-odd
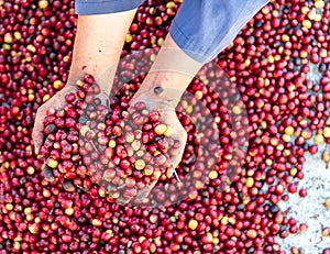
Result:
[[[135,97],[176,106],[199,68],[224,49],[270,0],[185,0]],[[154,89],[161,87],[156,96]]]

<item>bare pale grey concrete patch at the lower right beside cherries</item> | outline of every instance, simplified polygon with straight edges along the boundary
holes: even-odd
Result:
[[[316,155],[308,154],[304,165],[305,177],[299,181],[298,190],[305,188],[308,196],[301,198],[298,192],[289,195],[287,202],[280,202],[283,210],[290,208],[288,217],[300,223],[308,224],[304,233],[290,234],[285,240],[277,238],[283,251],[290,253],[290,247],[300,250],[300,254],[321,254],[322,250],[330,247],[330,236],[322,236],[322,227],[330,227],[330,209],[324,207],[324,200],[330,198],[330,167],[327,169],[321,159],[326,145],[319,147]],[[328,146],[329,150],[329,146]]]

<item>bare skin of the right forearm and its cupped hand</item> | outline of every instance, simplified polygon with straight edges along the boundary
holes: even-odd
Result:
[[[183,158],[187,143],[187,132],[178,120],[175,108],[202,65],[185,54],[168,34],[151,70],[130,102],[130,104],[134,104],[138,101],[143,101],[150,110],[162,109],[161,121],[172,128],[172,137],[180,142],[177,153],[170,157],[172,170],[169,169],[166,175],[173,176],[175,168]],[[163,89],[158,95],[154,92],[157,87]],[[156,183],[157,180],[150,183],[139,191],[134,200],[117,201],[122,205],[130,201],[133,203],[138,201],[139,203],[148,196]]]

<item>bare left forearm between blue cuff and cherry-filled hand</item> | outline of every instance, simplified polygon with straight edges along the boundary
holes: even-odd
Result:
[[[90,74],[105,92],[110,92],[124,38],[135,11],[136,9],[78,16],[68,84]]]

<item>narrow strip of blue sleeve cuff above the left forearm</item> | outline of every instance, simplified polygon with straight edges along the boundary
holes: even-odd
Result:
[[[143,0],[76,0],[75,11],[79,15],[106,14],[138,8]]]

